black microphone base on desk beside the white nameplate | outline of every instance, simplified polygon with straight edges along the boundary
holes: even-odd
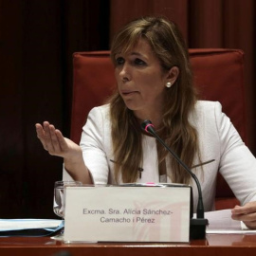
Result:
[[[208,219],[191,219],[190,239],[205,239],[208,224]]]

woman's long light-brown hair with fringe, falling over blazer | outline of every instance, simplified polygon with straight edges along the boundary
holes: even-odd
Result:
[[[163,72],[173,66],[179,69],[179,76],[171,88],[166,88],[163,102],[163,116],[159,136],[173,148],[174,152],[188,165],[199,156],[198,139],[195,129],[189,122],[189,115],[196,102],[192,85],[192,70],[184,39],[176,25],[163,17],[142,17],[123,27],[114,37],[111,46],[111,59],[116,64],[117,53],[126,53],[146,40],[158,58]],[[137,129],[137,119],[129,110],[119,93],[110,99],[112,121],[112,142],[115,155],[116,179],[119,172],[123,182],[137,180],[137,168],[142,165],[142,134]],[[165,166],[166,159],[171,161],[171,170],[166,170],[173,182],[189,183],[191,178],[182,167],[167,155],[166,150],[157,145],[159,169]],[[200,158],[200,157],[199,157]]]

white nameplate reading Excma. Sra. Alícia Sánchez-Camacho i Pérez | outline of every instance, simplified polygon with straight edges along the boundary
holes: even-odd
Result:
[[[66,242],[189,242],[191,188],[68,187]]]

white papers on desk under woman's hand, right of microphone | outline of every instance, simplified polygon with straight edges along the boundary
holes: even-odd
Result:
[[[256,233],[256,230],[247,229],[241,221],[231,218],[231,210],[214,210],[205,212],[205,217],[209,220],[207,234],[246,234]]]

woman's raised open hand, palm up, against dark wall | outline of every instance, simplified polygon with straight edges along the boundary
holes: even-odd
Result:
[[[44,121],[43,125],[35,124],[37,137],[40,139],[49,155],[62,156],[64,159],[75,159],[82,154],[81,147],[72,140],[63,136],[54,125]]]

